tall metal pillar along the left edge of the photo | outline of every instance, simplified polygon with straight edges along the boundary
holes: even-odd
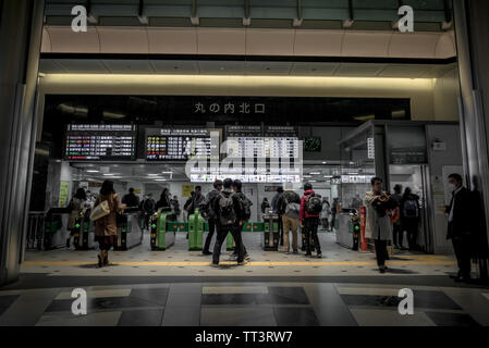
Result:
[[[0,285],[19,278],[34,160],[44,0],[0,1]]]

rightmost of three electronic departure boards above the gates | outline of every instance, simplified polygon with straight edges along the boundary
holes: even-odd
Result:
[[[259,126],[230,126],[227,135],[227,153],[231,158],[299,157],[299,144],[294,127],[266,126],[262,133]]]

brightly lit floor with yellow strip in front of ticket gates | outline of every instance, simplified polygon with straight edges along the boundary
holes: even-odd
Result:
[[[174,246],[166,251],[150,251],[148,235],[143,245],[129,251],[110,253],[114,264],[97,269],[97,252],[66,250],[64,248],[27,252],[22,265],[23,273],[49,274],[53,276],[371,276],[378,275],[375,256],[345,249],[335,244],[335,235],[321,233],[322,259],[305,258],[304,253],[285,254],[264,251],[260,234],[243,234],[252,256],[247,266],[239,268],[230,262],[228,253],[221,256],[222,266],[208,266],[211,258],[199,251],[188,251],[185,234],[178,234]],[[438,275],[455,272],[455,262],[450,256],[396,253],[388,262],[390,269],[384,275]]]

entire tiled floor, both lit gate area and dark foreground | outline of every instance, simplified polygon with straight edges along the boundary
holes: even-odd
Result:
[[[147,236],[146,236],[147,237]],[[19,284],[0,289],[0,325],[120,326],[489,326],[489,290],[455,284],[452,257],[394,254],[387,274],[374,254],[344,249],[320,234],[325,259],[265,252],[246,234],[246,266],[186,250],[184,235],[167,251],[145,244],[111,252],[28,252]],[[224,253],[222,260],[228,257]],[[72,290],[87,291],[87,315],[72,314]],[[414,293],[414,315],[398,311],[399,290]]]

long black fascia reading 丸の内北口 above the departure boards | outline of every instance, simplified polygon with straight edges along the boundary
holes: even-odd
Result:
[[[227,104],[234,105],[234,113],[224,112]],[[246,111],[243,109],[244,104],[247,105]],[[205,112],[201,112],[201,109],[197,112],[197,105],[201,105]],[[63,135],[66,124],[70,123],[135,123],[161,126],[206,126],[211,123],[216,127],[264,123],[305,127],[355,127],[365,120],[391,120],[392,114],[395,112],[399,115],[400,111],[401,120],[411,120],[409,99],[48,95],[41,141],[50,147],[51,157],[61,158]],[[339,140],[339,134],[337,130],[322,134],[315,129],[314,135],[304,136]]]

